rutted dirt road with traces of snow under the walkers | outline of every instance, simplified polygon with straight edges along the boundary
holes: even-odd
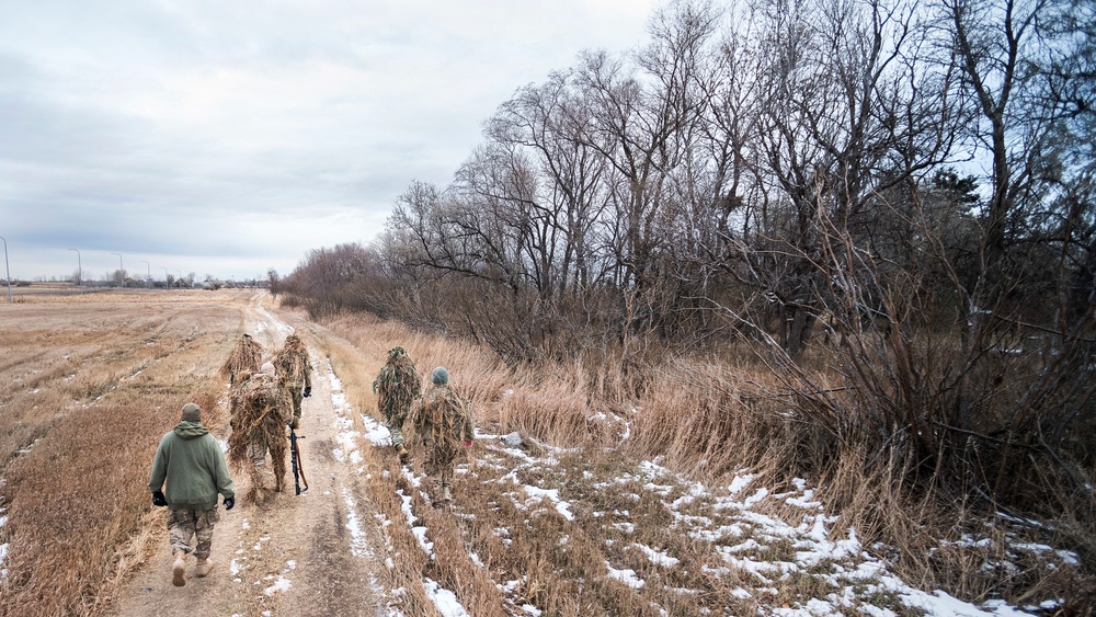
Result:
[[[289,487],[263,505],[238,500],[220,510],[214,532],[213,571],[194,576],[191,558],[186,584],[171,584],[171,553],[165,533],[156,552],[130,581],[110,615],[386,615],[378,581],[373,516],[366,511],[362,476],[338,439],[341,412],[333,404],[338,381],[319,352],[321,328],[269,308],[270,296],[255,295],[243,310],[244,331],[265,350],[297,331],[313,365],[312,396],[302,405],[299,435],[308,490],[295,496]],[[289,322],[285,321],[290,320]],[[383,358],[368,358],[380,367]],[[227,405],[228,391],[218,401]],[[215,436],[228,438],[227,427]],[[250,488],[247,473],[233,473],[237,495]]]

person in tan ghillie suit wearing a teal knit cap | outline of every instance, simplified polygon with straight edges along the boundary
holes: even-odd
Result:
[[[430,378],[432,385],[411,405],[408,418],[426,448],[426,473],[439,480],[442,494],[437,501],[448,505],[453,502],[453,464],[461,452],[461,442],[467,450],[475,438],[472,408],[449,387],[449,372],[444,366],[435,368]]]

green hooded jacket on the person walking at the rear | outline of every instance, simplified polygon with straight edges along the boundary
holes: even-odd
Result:
[[[201,422],[184,420],[160,439],[148,490],[155,493],[161,488],[171,510],[213,510],[218,493],[236,496],[225,455]]]

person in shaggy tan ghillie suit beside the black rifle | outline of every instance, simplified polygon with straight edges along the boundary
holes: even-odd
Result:
[[[270,366],[270,365],[266,365]],[[251,491],[247,498],[262,502],[266,482],[263,468],[270,450],[274,468],[274,491],[285,483],[285,455],[288,450],[285,425],[293,415],[293,400],[285,385],[274,374],[255,373],[242,378],[232,391],[232,434],[228,438],[228,459],[237,471],[247,468]]]

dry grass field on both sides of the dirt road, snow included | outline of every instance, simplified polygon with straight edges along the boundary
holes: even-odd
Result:
[[[102,613],[163,541],[152,453],[185,401],[227,424],[217,370],[254,295],[26,292],[0,309],[0,614]],[[749,365],[667,359],[642,396],[605,400],[584,367],[512,370],[364,316],[308,330],[345,397],[341,443],[361,450],[346,473],[366,487],[358,518],[380,538],[365,552],[384,562],[390,615],[438,615],[445,594],[476,617],[951,614],[941,592],[968,615],[1091,605],[1052,527],[941,509],[868,477],[855,450],[804,465],[818,454],[780,447],[777,385]],[[473,400],[480,438],[452,511],[366,436],[395,345]],[[797,476],[809,468],[825,472]]]

